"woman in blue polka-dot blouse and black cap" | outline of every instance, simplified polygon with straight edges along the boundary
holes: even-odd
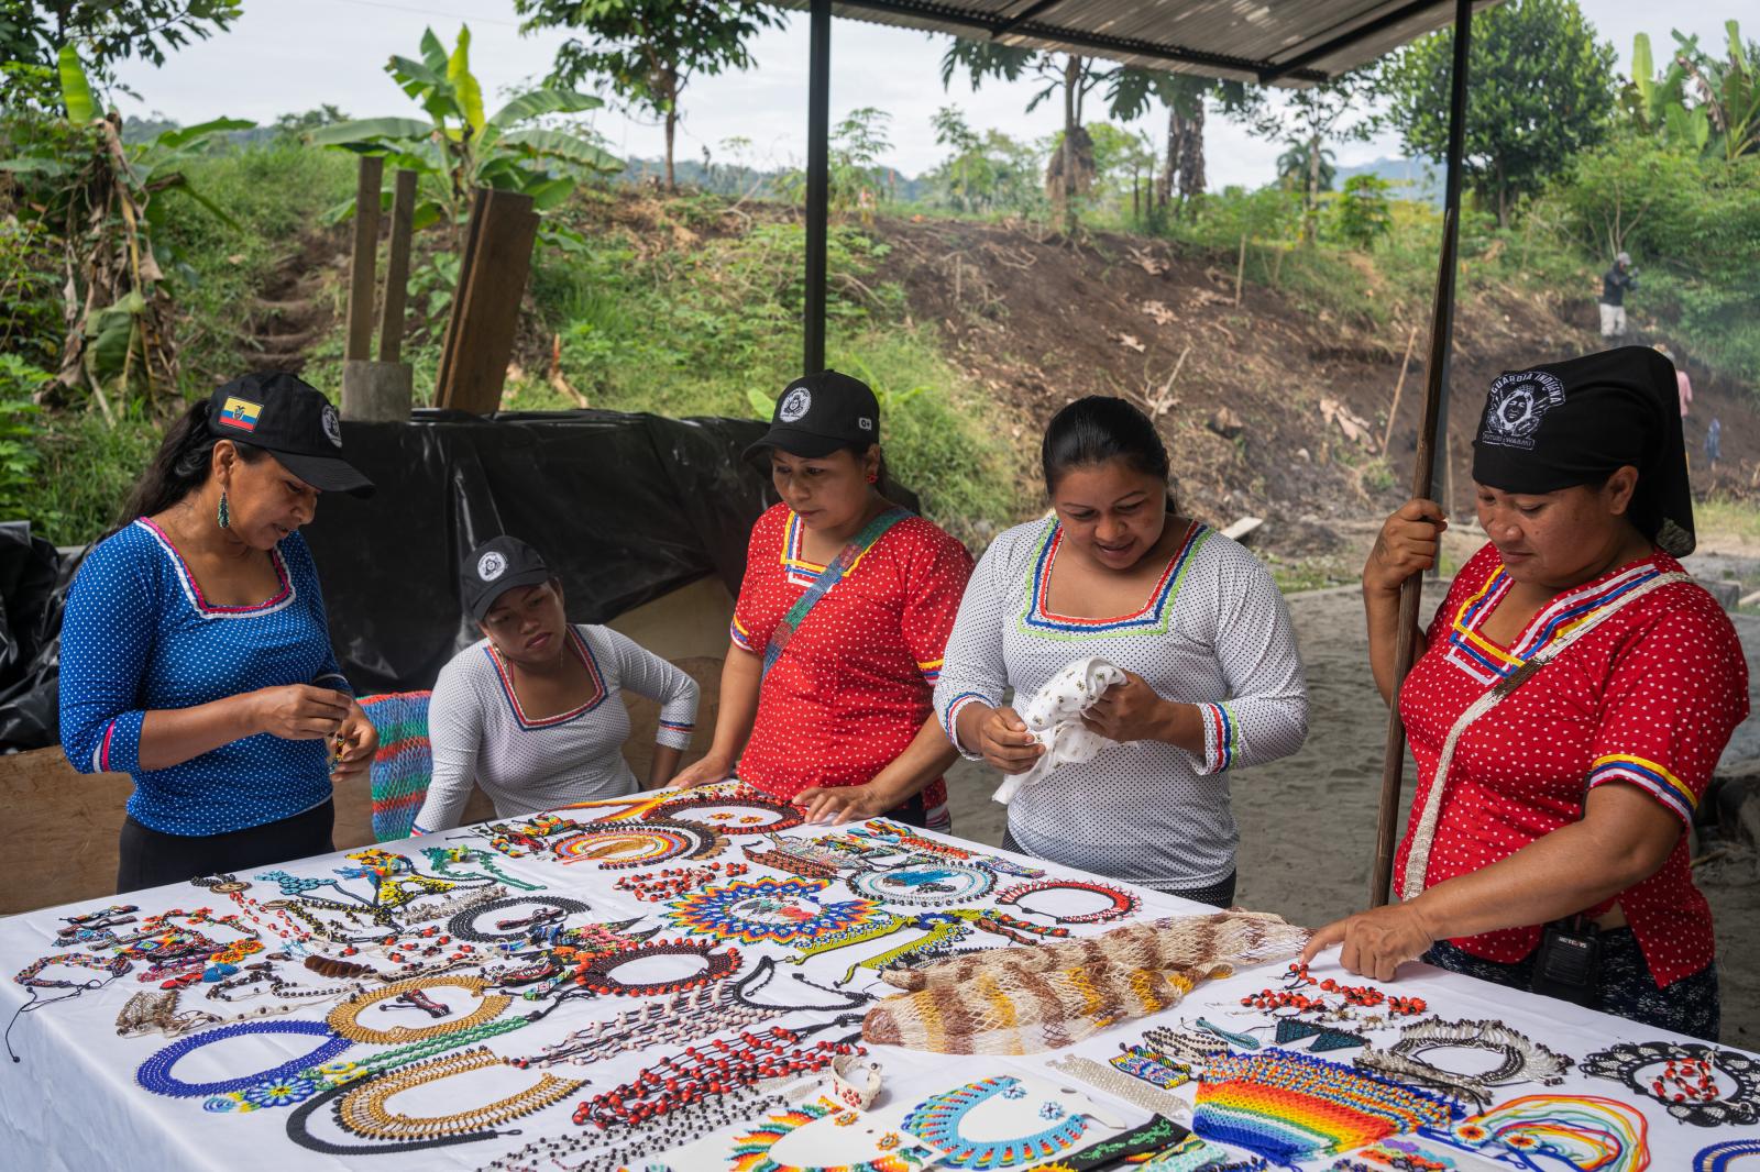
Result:
[[[331,651],[299,526],[366,496],[336,408],[285,373],[195,403],[74,577],[62,748],[134,778],[116,889],[326,853],[331,781],[378,746]]]

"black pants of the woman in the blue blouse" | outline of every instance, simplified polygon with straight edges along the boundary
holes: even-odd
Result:
[[[164,834],[134,818],[123,818],[116,894],[187,883],[199,875],[216,871],[248,871],[289,859],[327,855],[336,850],[331,843],[334,825],[333,802],[313,806],[292,818],[225,834]]]

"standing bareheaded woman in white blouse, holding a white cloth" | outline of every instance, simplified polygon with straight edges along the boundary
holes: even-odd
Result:
[[[1125,399],[1058,412],[1042,463],[1054,516],[1008,530],[979,560],[936,713],[961,753],[1021,774],[1045,750],[1008,693],[1024,706],[1082,656],[1123,669],[1082,714],[1107,743],[1024,785],[1003,845],[1227,905],[1239,841],[1228,771],[1308,736],[1283,597],[1241,546],[1177,516],[1167,449]]]

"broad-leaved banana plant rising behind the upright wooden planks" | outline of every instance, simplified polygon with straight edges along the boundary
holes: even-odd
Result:
[[[421,56],[392,56],[385,72],[415,100],[422,118],[366,118],[313,132],[320,146],[382,155],[385,169],[422,176],[415,227],[449,225],[463,243],[465,216],[479,187],[530,195],[540,213],[563,204],[581,179],[614,174],[623,164],[591,139],[542,120],[598,109],[604,102],[574,90],[526,90],[493,114],[486,113],[482,84],[470,70],[470,26],[463,26],[451,53],[431,28],[422,32]],[[389,190],[380,192],[389,206]],[[354,199],[340,204],[333,220],[354,215]]]

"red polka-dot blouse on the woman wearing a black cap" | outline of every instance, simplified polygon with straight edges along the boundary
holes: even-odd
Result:
[[[752,526],[732,639],[764,655],[771,632],[825,567],[774,505]],[[862,785],[910,746],[933,711],[947,635],[972,577],[964,546],[922,517],[880,537],[801,623],[759,693],[739,776],[776,797]],[[936,778],[924,808],[947,804]]]

